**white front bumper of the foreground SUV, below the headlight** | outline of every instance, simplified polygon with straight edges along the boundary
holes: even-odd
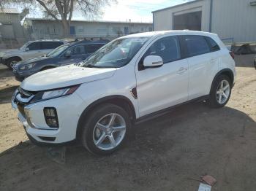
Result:
[[[18,119],[22,122],[29,139],[34,144],[59,145],[67,144],[76,139],[76,130],[80,117],[78,106],[82,101],[78,95],[73,93],[72,95],[21,107],[15,102],[15,96],[12,97],[12,107],[19,110]],[[50,128],[46,124],[43,113],[45,107],[56,108],[59,119],[58,129]]]

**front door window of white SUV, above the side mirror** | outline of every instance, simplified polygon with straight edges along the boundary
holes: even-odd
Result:
[[[147,55],[159,55],[164,63],[180,59],[181,53],[177,37],[167,36],[157,40],[148,48],[143,58]]]

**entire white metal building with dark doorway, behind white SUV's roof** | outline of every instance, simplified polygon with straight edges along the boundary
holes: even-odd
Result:
[[[194,0],[153,13],[154,31],[209,31],[229,42],[256,42],[255,0]]]

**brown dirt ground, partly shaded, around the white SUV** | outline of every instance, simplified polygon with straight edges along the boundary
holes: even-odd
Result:
[[[253,55],[236,56],[238,77],[229,103],[210,109],[187,104],[141,123],[124,148],[95,157],[67,147],[66,164],[26,138],[12,92],[19,85],[0,66],[0,190],[198,190],[204,174],[212,190],[255,190],[256,71]]]

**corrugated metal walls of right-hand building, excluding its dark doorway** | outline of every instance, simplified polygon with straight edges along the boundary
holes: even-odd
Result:
[[[213,0],[211,32],[234,42],[256,42],[256,6],[252,0]],[[209,31],[210,0],[195,1],[153,13],[154,31],[172,30],[173,15],[202,9],[202,31]]]

